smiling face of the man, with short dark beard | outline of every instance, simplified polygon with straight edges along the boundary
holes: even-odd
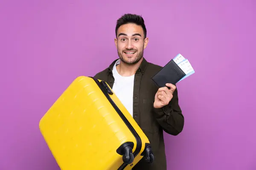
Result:
[[[119,58],[127,64],[135,64],[142,59],[148,38],[144,40],[141,26],[128,23],[118,28],[115,44]]]

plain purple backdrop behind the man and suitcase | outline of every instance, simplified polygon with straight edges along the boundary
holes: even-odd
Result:
[[[181,53],[196,71],[177,84],[185,126],[165,135],[168,170],[256,170],[256,3],[108,2],[1,1],[0,170],[58,170],[38,123],[73,79],[118,57],[115,23],[128,12],[145,19],[149,62]]]

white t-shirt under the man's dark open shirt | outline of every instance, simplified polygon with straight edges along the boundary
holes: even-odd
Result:
[[[129,77],[122,77],[116,70],[116,65],[119,65],[120,59],[116,61],[113,66],[113,77],[115,82],[113,84],[113,92],[133,116],[133,90],[134,90],[134,75]]]

